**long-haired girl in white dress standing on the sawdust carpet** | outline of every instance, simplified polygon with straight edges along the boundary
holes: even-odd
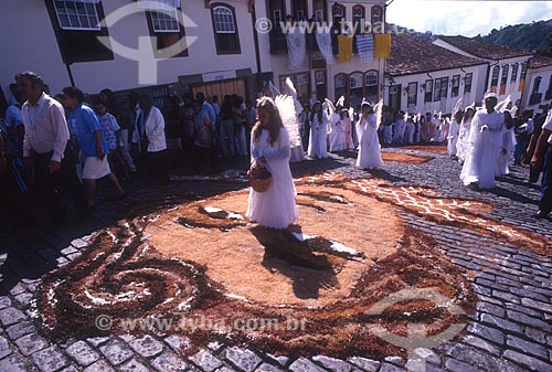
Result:
[[[257,115],[251,136],[252,169],[266,168],[272,173],[272,183],[265,192],[251,189],[245,215],[266,227],[286,228],[298,217],[289,169],[289,135],[272,98],[259,100]]]

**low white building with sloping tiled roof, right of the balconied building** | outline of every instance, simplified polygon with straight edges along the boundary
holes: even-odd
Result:
[[[410,114],[448,114],[480,100],[487,63],[407,33],[393,34],[385,71],[385,103]]]

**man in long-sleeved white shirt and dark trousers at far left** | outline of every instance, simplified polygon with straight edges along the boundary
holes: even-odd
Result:
[[[22,107],[23,162],[34,170],[34,188],[40,193],[54,224],[63,223],[67,216],[60,205],[62,185],[66,185],[79,208],[84,206],[82,187],[76,177],[75,159],[65,151],[70,138],[63,106],[44,93],[42,77],[33,72],[15,75],[18,89],[26,102]]]

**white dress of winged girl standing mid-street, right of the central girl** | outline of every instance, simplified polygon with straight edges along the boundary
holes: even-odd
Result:
[[[357,157],[358,168],[379,168],[383,164],[381,159],[381,146],[378,140],[378,118],[374,114],[368,115],[365,119],[361,117],[357,123],[359,134],[359,156]]]

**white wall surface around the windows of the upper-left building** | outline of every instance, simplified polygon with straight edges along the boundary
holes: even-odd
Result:
[[[182,75],[217,71],[251,68],[256,73],[253,28],[247,3],[242,1],[224,1],[224,3],[235,8],[242,53],[217,55],[210,9],[205,9],[203,1],[182,1],[182,12],[198,25],[187,26],[185,35],[197,36],[198,40],[190,45],[189,56],[169,59],[157,64],[157,84],[178,82],[178,76]],[[109,0],[103,1],[102,4],[105,14],[108,15],[118,8],[129,4],[129,1]],[[8,56],[2,59],[0,72],[3,88],[13,81],[13,74],[22,70],[32,70],[41,74],[51,85],[52,93],[57,93],[70,85],[44,1],[4,1],[0,20],[0,31],[3,35],[0,41],[0,52],[3,56]],[[21,26],[21,20],[24,20],[28,26]],[[126,17],[109,28],[108,32],[112,39],[136,49],[139,35],[149,36],[146,13]],[[74,63],[71,70],[75,85],[85,92],[95,93],[105,87],[120,91],[139,86],[138,63],[117,54],[113,61]],[[4,92],[8,91],[4,88]]]

